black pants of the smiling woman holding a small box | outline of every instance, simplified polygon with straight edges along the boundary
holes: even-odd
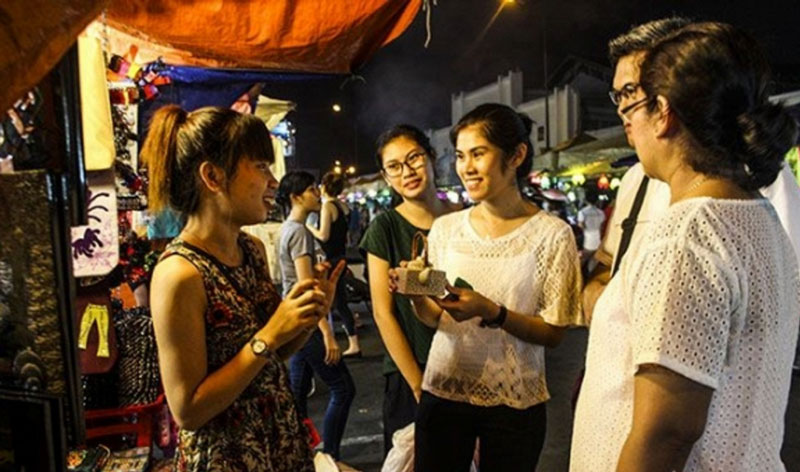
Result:
[[[481,472],[532,472],[544,444],[544,403],[482,407],[422,392],[414,430],[416,472],[467,472],[480,439]]]

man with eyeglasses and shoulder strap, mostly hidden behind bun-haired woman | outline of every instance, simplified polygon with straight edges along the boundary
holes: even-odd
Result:
[[[639,85],[641,61],[650,47],[689,23],[680,17],[663,18],[635,26],[609,42],[609,59],[614,65],[613,88],[609,96],[617,106],[628,143],[634,149],[632,117],[650,100]],[[761,194],[774,206],[800,264],[800,187],[788,165],[784,165],[772,185],[761,189]],[[637,163],[625,173],[617,189],[616,204],[605,238],[594,255],[598,265],[583,290],[587,321],[591,321],[595,303],[619,269],[623,256],[638,243],[644,229],[666,212],[669,204],[669,186],[644,175],[641,164]],[[796,373],[800,370],[800,353],[797,359]]]

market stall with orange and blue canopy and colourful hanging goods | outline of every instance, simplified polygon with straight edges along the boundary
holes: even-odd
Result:
[[[291,104],[254,87],[351,71],[402,33],[421,1],[253,0],[221,10],[153,0],[103,11],[107,4],[4,7],[0,106],[13,106],[0,143],[0,334],[22,336],[0,343],[0,401],[21,412],[3,423],[0,453],[28,470],[64,470],[66,449],[87,440],[146,448],[117,454],[139,461],[130,470],[146,470],[151,447],[174,446],[139,288],[157,255],[153,241],[180,221],[166,215],[161,238],[145,236],[164,216],[142,214],[147,175],[137,153],[148,116],[165,103],[255,112],[281,155],[292,147],[290,127],[280,126]],[[80,54],[70,49],[92,21]],[[17,257],[19,248],[42,258]],[[112,292],[120,281],[128,291]],[[32,452],[42,445],[44,454]],[[104,451],[82,449],[70,460],[97,463],[108,459]]]

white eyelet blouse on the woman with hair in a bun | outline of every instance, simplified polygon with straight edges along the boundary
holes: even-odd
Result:
[[[800,281],[768,201],[672,205],[625,257],[594,313],[570,470],[616,470],[641,364],[714,389],[685,470],[784,470]]]

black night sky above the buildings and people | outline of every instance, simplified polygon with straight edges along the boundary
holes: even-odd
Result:
[[[545,28],[550,73],[570,55],[607,65],[609,39],[631,25],[677,14],[750,31],[776,71],[790,82],[800,76],[795,73],[800,72],[798,0],[517,0],[481,37],[498,6],[498,0],[438,0],[427,49],[425,12],[420,11],[400,38],[356,71],[360,78],[265,90],[298,103],[290,118],[297,125],[299,166],[324,172],[340,159],[356,164],[359,173],[373,172],[377,135],[402,122],[423,129],[450,125],[452,93],[486,85],[512,69],[523,71],[526,89],[543,88]],[[331,111],[335,102],[343,108],[338,114]]]

